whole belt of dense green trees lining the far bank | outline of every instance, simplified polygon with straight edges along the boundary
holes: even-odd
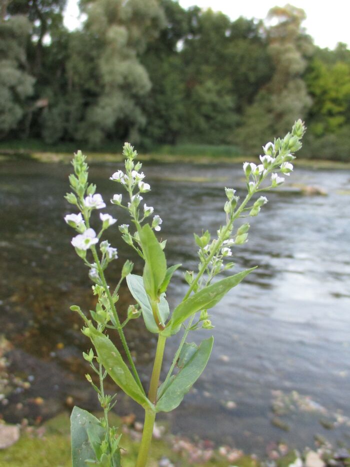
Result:
[[[86,20],[68,32],[64,7],[2,3],[1,139],[246,154],[302,118],[304,157],[350,158],[350,51],[314,46],[302,10],[230,21],[174,0],[82,0]]]

